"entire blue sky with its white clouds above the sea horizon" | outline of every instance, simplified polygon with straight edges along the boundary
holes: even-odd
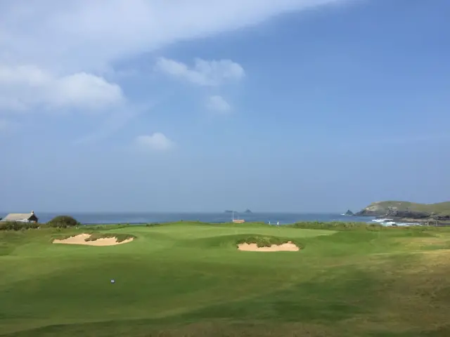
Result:
[[[450,190],[447,0],[0,4],[2,211],[345,211]]]

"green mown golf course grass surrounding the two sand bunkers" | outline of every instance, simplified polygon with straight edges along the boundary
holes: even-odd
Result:
[[[136,239],[51,243],[93,231]],[[302,249],[238,251],[247,237]],[[435,227],[1,231],[0,336],[450,336],[447,249]]]

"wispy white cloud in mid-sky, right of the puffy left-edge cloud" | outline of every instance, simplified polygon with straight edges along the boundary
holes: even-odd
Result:
[[[182,62],[160,58],[156,68],[200,86],[219,86],[225,81],[238,81],[245,76],[243,67],[231,60],[207,61],[197,58],[193,67],[188,67]]]

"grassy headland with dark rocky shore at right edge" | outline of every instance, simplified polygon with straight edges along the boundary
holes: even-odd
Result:
[[[409,201],[378,201],[354,213],[354,216],[392,218],[395,221],[411,223],[450,223],[450,201],[437,204],[416,204]]]

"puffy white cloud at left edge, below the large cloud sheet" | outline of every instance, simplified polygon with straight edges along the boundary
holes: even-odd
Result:
[[[123,100],[120,86],[93,74],[79,72],[58,77],[33,65],[0,65],[0,110],[98,110]]]

